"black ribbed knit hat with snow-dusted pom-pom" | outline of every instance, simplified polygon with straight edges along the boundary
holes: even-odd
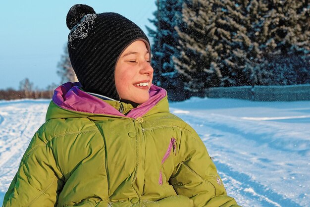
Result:
[[[67,14],[68,52],[73,70],[87,92],[119,100],[114,69],[117,59],[132,42],[150,42],[135,23],[117,13],[96,14],[88,5],[76,4]]]

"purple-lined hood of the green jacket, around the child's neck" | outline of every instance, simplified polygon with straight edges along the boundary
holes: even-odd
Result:
[[[82,91],[80,87],[81,84],[79,82],[68,82],[57,87],[48,108],[46,120],[51,118],[88,117],[96,115],[137,118],[148,113],[159,102],[166,102],[164,104],[165,106],[163,108],[161,107],[161,109],[169,111],[167,92],[153,84],[149,91],[150,99],[138,107],[133,108],[127,115],[122,114],[103,100]]]

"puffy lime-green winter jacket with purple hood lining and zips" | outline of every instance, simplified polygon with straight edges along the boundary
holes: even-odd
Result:
[[[165,91],[126,116],[64,84],[2,207],[229,207],[206,147],[171,114]]]

